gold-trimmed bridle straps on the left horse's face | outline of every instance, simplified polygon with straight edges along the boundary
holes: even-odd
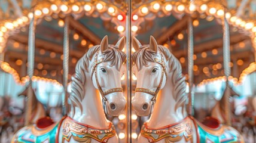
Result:
[[[123,88],[112,88],[112,89],[108,89],[106,91],[102,91],[102,88],[99,85],[99,80],[97,79],[97,70],[95,70],[95,69],[98,64],[103,62],[104,58],[100,58],[99,60],[97,60],[98,54],[99,54],[99,52],[97,52],[95,55],[95,63],[93,64],[91,78],[93,78],[93,73],[95,73],[95,80],[96,80],[97,88],[99,89],[100,95],[102,96],[103,108],[105,110],[105,113],[108,114],[108,108],[106,108],[106,102],[108,101],[108,99],[106,99],[105,96],[108,94],[114,93],[114,92],[123,92]]]

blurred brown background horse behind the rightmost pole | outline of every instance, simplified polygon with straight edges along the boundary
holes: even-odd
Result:
[[[233,88],[226,86],[224,92],[223,92],[223,96],[221,97],[221,100],[218,100],[214,106],[214,108],[212,108],[211,111],[211,117],[214,117],[215,119],[218,119],[220,121],[220,123],[227,123],[227,119],[225,119],[225,93],[227,92],[227,88],[230,89],[230,97],[234,97],[234,96],[238,96],[240,97],[239,94],[237,94]],[[234,117],[234,113],[233,113],[233,109],[234,109],[234,105],[231,104],[231,118]]]

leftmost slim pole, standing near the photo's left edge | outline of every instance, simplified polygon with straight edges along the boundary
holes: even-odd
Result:
[[[29,76],[29,85],[28,85],[28,100],[26,106],[26,116],[25,116],[25,125],[29,125],[29,120],[31,119],[32,112],[32,76],[35,60],[35,23],[34,17],[31,19],[29,24],[29,41],[28,41],[28,76]]]

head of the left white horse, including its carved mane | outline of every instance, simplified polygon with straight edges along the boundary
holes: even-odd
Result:
[[[123,76],[123,63],[126,54],[121,51],[125,45],[125,38],[121,38],[116,45],[108,44],[108,36],[105,36],[100,45],[93,46],[78,61],[75,76],[71,83],[71,104],[80,108],[83,112],[81,101],[86,96],[86,77],[90,77],[93,86],[99,90],[102,96],[102,104],[105,113],[110,116],[118,116],[126,105],[121,86]],[[96,96],[96,95],[95,95]]]

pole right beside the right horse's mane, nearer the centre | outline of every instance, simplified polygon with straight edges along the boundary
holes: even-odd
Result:
[[[194,115],[194,39],[193,39],[193,25],[192,18],[188,20],[188,85],[189,85],[189,101],[188,101],[188,114]]]

